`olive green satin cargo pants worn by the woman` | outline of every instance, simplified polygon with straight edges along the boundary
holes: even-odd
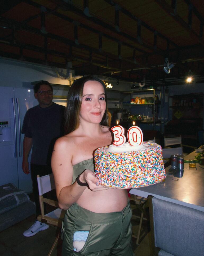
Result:
[[[62,224],[62,256],[134,256],[132,252],[131,207],[121,212],[95,213],[73,204]],[[83,248],[73,251],[73,233],[89,231]]]

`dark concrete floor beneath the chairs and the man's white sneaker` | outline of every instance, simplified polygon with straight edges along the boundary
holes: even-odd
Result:
[[[37,233],[32,237],[24,237],[23,232],[35,221],[35,216],[11,226],[0,232],[1,256],[47,256],[52,243],[55,240],[56,228],[50,228]],[[139,218],[132,220],[133,232],[137,233]],[[132,238],[133,251],[136,256],[150,256],[149,226],[148,221],[143,221],[140,244],[136,245],[136,239]],[[52,256],[61,256],[61,241],[58,243]],[[126,256],[126,255],[124,255]]]

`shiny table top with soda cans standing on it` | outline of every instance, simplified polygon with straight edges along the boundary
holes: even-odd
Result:
[[[189,156],[185,159],[190,159]],[[190,157],[192,158],[193,155]],[[196,167],[197,170],[192,171],[189,170],[189,164],[184,163],[183,177],[178,178],[172,172],[168,173],[168,170],[171,171],[171,166],[168,166],[165,169],[167,176],[164,182],[148,187],[133,188],[129,193],[146,198],[148,195],[153,195],[159,199],[204,212],[204,166],[196,164]]]

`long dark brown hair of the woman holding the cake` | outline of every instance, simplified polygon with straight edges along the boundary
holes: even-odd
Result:
[[[65,134],[71,133],[79,127],[79,112],[82,104],[83,87],[87,81],[97,81],[103,85],[105,102],[107,105],[106,86],[103,81],[94,76],[84,76],[75,80],[67,95],[67,106],[65,110]],[[100,125],[108,126],[107,106]]]

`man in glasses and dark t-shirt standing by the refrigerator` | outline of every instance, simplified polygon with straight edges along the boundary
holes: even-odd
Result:
[[[44,176],[52,173],[51,155],[57,138],[63,135],[63,119],[65,107],[52,102],[53,88],[47,81],[41,81],[34,86],[34,95],[39,105],[30,108],[24,117],[21,133],[24,133],[23,163],[25,174],[31,171],[33,194],[36,203],[36,218],[41,214],[38,199],[37,175]],[[30,169],[28,156],[32,148]],[[36,220],[23,235],[34,236],[49,226]]]

